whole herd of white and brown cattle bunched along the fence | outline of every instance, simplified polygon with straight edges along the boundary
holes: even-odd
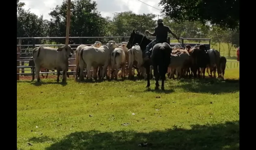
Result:
[[[141,38],[140,35],[142,35]],[[152,70],[154,70],[154,76],[156,76],[155,70],[159,70],[160,73],[161,67],[159,65],[159,68],[152,68],[152,63],[147,63],[148,60],[144,59],[145,46],[149,42],[150,40],[145,35],[137,32],[135,34],[133,31],[129,42],[117,44],[115,41],[108,41],[106,45],[102,45],[101,42],[95,41],[95,44],[91,46],[78,46],[75,52],[73,52],[70,45],[58,49],[44,46],[36,47],[33,49],[34,71],[38,82],[40,82],[40,71],[45,69],[53,70],[54,68],[57,70],[57,81],[59,81],[60,71],[63,71],[62,82],[66,82],[68,69],[76,70],[73,76],[79,81],[84,80],[84,76],[88,80],[91,80],[92,77],[95,80],[103,79],[105,76],[107,79],[117,79],[118,76],[125,79],[127,75],[128,79],[134,79],[135,69],[139,78],[146,77],[149,80],[149,78],[152,79],[153,77]],[[154,48],[151,59],[153,59],[153,55]],[[75,58],[75,60],[69,61],[69,58]],[[186,45],[184,48],[178,45],[170,47],[170,58],[168,61],[167,73],[169,78],[174,78],[175,72],[177,78],[204,78],[205,70],[213,78],[216,78],[216,71],[218,78],[223,78],[226,67],[226,58],[220,57],[220,53],[215,49],[208,50],[203,44],[194,47]],[[128,63],[127,69],[126,63]],[[68,65],[70,64],[75,64],[76,66],[69,67]],[[148,69],[149,66],[150,70]],[[120,68],[121,74],[118,74]],[[86,69],[86,73],[83,73],[82,70],[84,69]],[[91,69],[93,70],[92,75]]]

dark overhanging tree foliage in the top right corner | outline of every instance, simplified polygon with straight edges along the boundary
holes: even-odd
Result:
[[[161,0],[161,13],[175,22],[210,22],[221,28],[239,29],[239,0]]]

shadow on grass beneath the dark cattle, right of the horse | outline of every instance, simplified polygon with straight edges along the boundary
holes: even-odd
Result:
[[[183,88],[185,91],[195,93],[233,93],[239,91],[239,79],[181,79],[179,85],[171,88]]]

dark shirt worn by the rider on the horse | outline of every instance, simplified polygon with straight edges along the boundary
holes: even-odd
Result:
[[[156,36],[156,41],[167,40],[168,32],[172,33],[170,28],[168,26],[160,24],[155,27],[155,32],[153,33],[153,36]]]

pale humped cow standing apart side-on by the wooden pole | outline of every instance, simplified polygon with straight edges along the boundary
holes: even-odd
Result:
[[[57,81],[59,82],[60,71],[63,70],[62,82],[67,81],[68,58],[71,57],[73,49],[70,45],[60,48],[40,46],[33,49],[33,60],[35,62],[35,73],[37,82],[40,82],[40,68],[52,70],[57,69]]]

